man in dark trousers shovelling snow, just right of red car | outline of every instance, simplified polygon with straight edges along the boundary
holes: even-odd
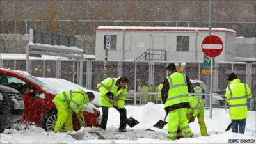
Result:
[[[106,129],[108,121],[108,108],[114,107],[120,113],[119,132],[126,132],[126,109],[125,93],[127,92],[127,84],[129,79],[127,77],[120,78],[106,78],[99,84],[97,88],[101,93],[100,105],[102,106],[102,122],[100,127]]]

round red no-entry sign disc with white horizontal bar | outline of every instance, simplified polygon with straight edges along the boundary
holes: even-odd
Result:
[[[223,42],[218,36],[210,35],[204,38],[201,48],[205,56],[214,58],[223,51]]]

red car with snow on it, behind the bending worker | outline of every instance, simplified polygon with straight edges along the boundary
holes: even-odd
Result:
[[[71,82],[70,82],[71,83]],[[47,87],[27,72],[0,68],[0,84],[15,88],[24,99],[22,123],[39,125],[46,131],[52,131],[57,118],[57,110],[52,102],[57,90]],[[100,111],[93,105],[84,106],[84,119],[89,127],[100,123]],[[77,116],[73,113],[74,130],[79,130]]]

